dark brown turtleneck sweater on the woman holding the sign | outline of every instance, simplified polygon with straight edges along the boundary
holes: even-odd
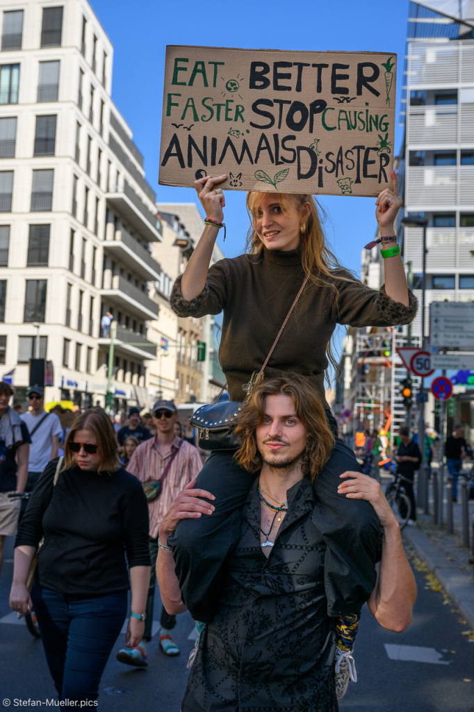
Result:
[[[345,270],[335,269],[332,275],[338,298],[329,285],[308,282],[265,369],[265,377],[283,372],[309,377],[326,408],[326,347],[336,325],[409,324],[417,305],[411,292],[406,307],[387,296],[384,287],[371,289]],[[204,290],[190,301],[181,295],[181,277],[174,283],[171,305],[177,315],[199,318],[223,311],[219,360],[231,400],[246,397],[242,386],[262,367],[304,278],[300,251],[263,248],[259,256],[241,255],[211,266]]]

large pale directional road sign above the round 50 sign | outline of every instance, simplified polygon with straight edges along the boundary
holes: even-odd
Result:
[[[474,349],[474,303],[432,302],[430,342],[432,346]]]

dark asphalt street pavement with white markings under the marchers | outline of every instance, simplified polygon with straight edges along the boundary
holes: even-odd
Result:
[[[41,641],[23,622],[12,624],[8,607],[13,571],[13,540],[6,548],[0,577],[0,699],[46,701],[55,698]],[[339,704],[344,712],[472,712],[474,711],[474,642],[453,606],[446,604],[419,560],[414,560],[418,600],[414,619],[404,633],[384,630],[367,608],[362,612],[355,660],[359,681],[349,684]],[[426,578],[428,576],[428,578]],[[157,595],[155,618],[159,617]],[[460,622],[461,620],[461,622]],[[186,661],[194,646],[189,614],[178,617],[174,639],[181,655],[167,658],[157,636],[148,646],[147,669],[132,669],[115,659],[117,641],[100,685],[101,712],[179,712],[186,686]]]

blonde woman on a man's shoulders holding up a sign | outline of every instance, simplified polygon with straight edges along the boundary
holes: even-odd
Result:
[[[365,286],[339,265],[327,247],[311,195],[249,193],[248,252],[209,268],[223,225],[225,197],[218,184],[226,176],[221,175],[207,176],[194,184],[206,212],[206,227],[172,292],[172,308],[180,316],[199,318],[223,311],[219,359],[230,399],[243,402],[305,283],[270,357],[265,378],[290,372],[306,377],[319,392],[336,436],[330,459],[315,482],[315,492],[325,503],[320,528],[327,545],[327,566],[337,568],[339,562],[340,574],[341,560],[353,564],[351,575],[345,575],[345,583],[340,583],[339,577],[340,585],[331,594],[333,615],[357,610],[374,590],[374,565],[379,557],[374,532],[379,520],[369,503],[342,496],[350,491],[350,485],[340,478],[344,473],[347,477],[351,471],[360,472],[360,468],[354,453],[337,438],[337,423],[325,401],[325,370],[328,362],[335,364],[330,350],[332,333],[337,324],[407,324],[416,314],[416,298],[406,286],[396,245],[394,221],[401,199],[395,172],[391,177],[393,189],[385,189],[376,199],[386,280],[380,290]],[[215,496],[211,516],[201,516],[196,505],[196,520],[181,521],[174,537],[169,538],[183,600],[201,622],[214,616],[221,564],[238,541],[241,507],[255,478],[238,467],[232,456],[232,452],[213,453],[197,479],[197,487]],[[271,497],[272,493],[268,494]],[[391,532],[390,538],[387,531],[385,534],[392,551],[404,558],[399,532]],[[400,577],[400,581],[401,587],[406,585],[406,578]],[[397,617],[407,598],[402,590],[391,591],[391,595],[399,602],[394,604]]]

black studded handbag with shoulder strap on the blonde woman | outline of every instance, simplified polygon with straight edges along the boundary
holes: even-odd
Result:
[[[295,301],[291,305],[290,311],[286,315],[286,319],[278,332],[278,336],[273,342],[273,346],[265,359],[265,363],[258,372],[258,375],[255,379],[251,379],[251,382],[246,384],[247,398],[251,394],[253,387],[255,387],[262,379],[265,367],[273,354],[275,346],[278,344],[280,336],[283,334],[283,329],[285,328],[288,319],[296,306],[297,300],[301,296],[302,290],[306,286],[307,280],[308,278],[306,276],[300,291],[297,293]],[[241,442],[236,438],[234,430],[236,429],[238,416],[242,410],[243,403],[239,401],[221,400],[221,396],[226,387],[227,384],[225,384],[221,392],[218,394],[214,400],[214,403],[201,405],[201,407],[198,408],[189,419],[191,426],[197,428],[199,432],[199,446],[203,450],[210,450],[211,452],[220,450],[238,450],[241,446]]]

